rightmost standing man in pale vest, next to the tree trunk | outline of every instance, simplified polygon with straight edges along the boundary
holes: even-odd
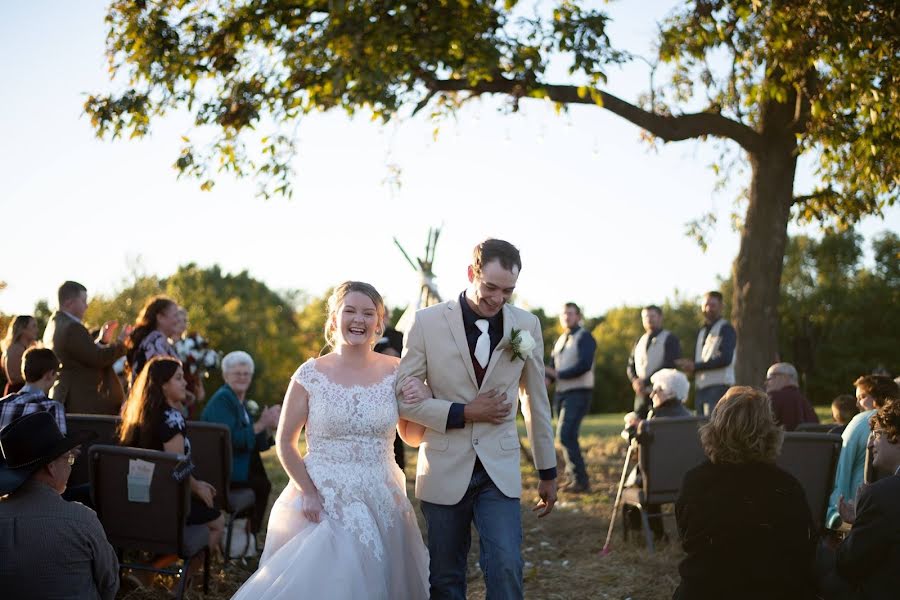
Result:
[[[707,292],[703,299],[704,325],[697,333],[694,360],[676,361],[678,368],[694,374],[694,406],[698,415],[710,415],[719,399],[734,385],[737,333],[722,318],[721,292]]]

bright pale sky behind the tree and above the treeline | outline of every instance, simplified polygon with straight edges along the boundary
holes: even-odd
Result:
[[[650,55],[655,23],[673,5],[605,5],[614,45]],[[262,200],[253,181],[227,175],[203,192],[172,168],[190,133],[184,114],[139,141],[94,136],[84,100],[113,89],[105,9],[98,0],[0,4],[0,280],[8,284],[0,312],[30,313],[66,279],[109,294],[135,270],[165,276],[189,262],[313,295],[361,279],[389,306],[405,305],[418,276],[393,237],[422,256],[436,226],[445,298],[466,286],[471,249],[489,236],[522,253],[517,303],[551,314],[567,301],[600,315],[676,290],[699,296],[730,272],[738,234],[729,214],[746,176],[717,191],[712,144],[653,149],[638,128],[590,106],[558,116],[532,101],[508,115],[499,100],[476,101],[443,122],[437,140],[423,117],[381,125],[314,114],[296,124],[293,199]],[[635,62],[611,69],[607,89],[634,101],[647,81],[646,65]],[[399,187],[387,183],[389,165],[400,168]],[[813,185],[809,165],[801,161],[798,193]],[[719,225],[704,253],[685,224],[709,211]],[[867,240],[886,229],[900,230],[900,207],[859,227]]]

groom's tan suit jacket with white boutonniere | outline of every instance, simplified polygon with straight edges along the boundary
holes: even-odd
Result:
[[[513,358],[509,347],[513,328],[530,332],[536,342],[525,360]],[[462,429],[447,429],[450,405],[467,404],[479,393],[462,309],[458,302],[451,300],[416,312],[406,336],[395,391],[400,416],[428,427],[419,447],[417,498],[444,505],[459,502],[472,477],[476,456],[504,495],[519,498],[522,474],[516,412],[520,401],[535,467],[556,467],[543,358],[544,345],[537,317],[505,305],[503,337],[491,354],[481,390],[505,394],[513,410],[500,425],[478,422],[466,423]],[[434,398],[419,404],[402,402],[400,386],[407,377],[426,381]]]

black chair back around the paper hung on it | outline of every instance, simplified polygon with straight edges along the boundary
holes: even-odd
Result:
[[[173,472],[184,457],[102,444],[91,446],[88,454],[94,508],[109,543],[120,549],[182,556],[191,492],[188,479],[176,481]],[[154,465],[149,502],[129,500],[129,467],[135,460]]]

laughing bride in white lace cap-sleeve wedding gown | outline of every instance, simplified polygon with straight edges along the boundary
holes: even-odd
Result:
[[[259,570],[234,599],[428,597],[428,552],[393,454],[395,427],[413,446],[424,427],[398,420],[398,359],[372,351],[383,317],[367,283],[331,295],[333,351],[291,378],[276,434],[290,482],[272,507]]]

